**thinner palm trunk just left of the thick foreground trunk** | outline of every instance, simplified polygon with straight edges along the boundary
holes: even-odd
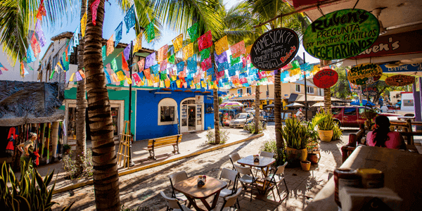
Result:
[[[86,1],[81,3],[81,19],[87,11]],[[84,38],[79,34],[79,46],[77,46],[77,70],[84,68]],[[85,110],[87,108],[87,99],[85,93],[85,79],[77,82],[76,87],[76,165],[77,174],[82,172],[82,158],[87,154],[87,123],[85,122]]]

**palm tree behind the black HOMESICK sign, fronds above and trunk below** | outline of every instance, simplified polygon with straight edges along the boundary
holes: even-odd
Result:
[[[274,18],[276,15],[281,13],[288,13],[293,11],[287,3],[283,0],[248,0],[248,4],[253,8],[252,14],[255,16],[259,23],[264,23],[266,20]],[[296,13],[294,15],[289,15],[279,18],[277,20],[271,21],[266,25],[258,27],[257,30],[260,32],[267,32],[269,30],[274,30],[278,27],[288,27],[292,30],[295,30],[300,36],[305,32],[307,27],[307,19]],[[281,71],[277,70],[274,75],[274,122],[276,124],[276,146],[279,149],[284,148],[283,136],[281,136]]]

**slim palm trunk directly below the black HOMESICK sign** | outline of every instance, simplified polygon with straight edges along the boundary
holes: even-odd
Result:
[[[283,151],[284,141],[280,132],[281,127],[283,127],[283,124],[281,123],[281,72],[280,70],[275,71],[277,71],[274,75],[274,122],[276,122],[276,146],[277,149]]]

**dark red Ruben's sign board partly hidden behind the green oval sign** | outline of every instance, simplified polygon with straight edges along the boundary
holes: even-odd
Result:
[[[350,59],[420,53],[422,52],[421,34],[422,30],[416,30],[378,37],[371,47]]]

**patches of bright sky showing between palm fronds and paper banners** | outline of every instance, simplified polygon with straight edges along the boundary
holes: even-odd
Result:
[[[224,4],[226,4],[226,8],[230,8],[234,4],[237,4],[241,0],[224,0]],[[111,35],[115,33],[116,27],[120,24],[121,21],[124,20],[124,13],[120,10],[120,7],[117,5],[116,1],[110,0],[106,1],[105,4],[105,17],[104,17],[104,25],[103,25],[103,38],[110,39]],[[73,15],[69,15],[67,22],[63,23],[63,26],[57,28],[51,28],[43,23],[43,30],[44,35],[47,41],[51,41],[51,37],[54,37],[62,32],[75,32],[77,27],[80,27],[80,9],[79,11],[74,11]],[[164,46],[165,44],[172,44],[172,39],[179,35],[179,32],[174,32],[169,28],[165,28],[162,32],[162,37],[160,40],[155,40],[148,44],[146,40],[142,41],[142,47],[147,49],[154,49],[158,50],[160,47]],[[115,36],[113,36],[115,38]],[[134,40],[136,37],[134,29],[129,30],[129,33],[126,33],[126,26],[123,22],[123,30],[122,30],[122,40],[121,43],[129,44],[130,41]],[[43,48],[41,48],[40,58],[44,55],[45,51],[48,49],[49,44],[46,44]],[[306,53],[305,49],[301,45],[298,51],[298,56],[301,58],[303,57],[303,52],[305,52],[305,60],[307,63],[319,63],[319,59],[310,56]]]

